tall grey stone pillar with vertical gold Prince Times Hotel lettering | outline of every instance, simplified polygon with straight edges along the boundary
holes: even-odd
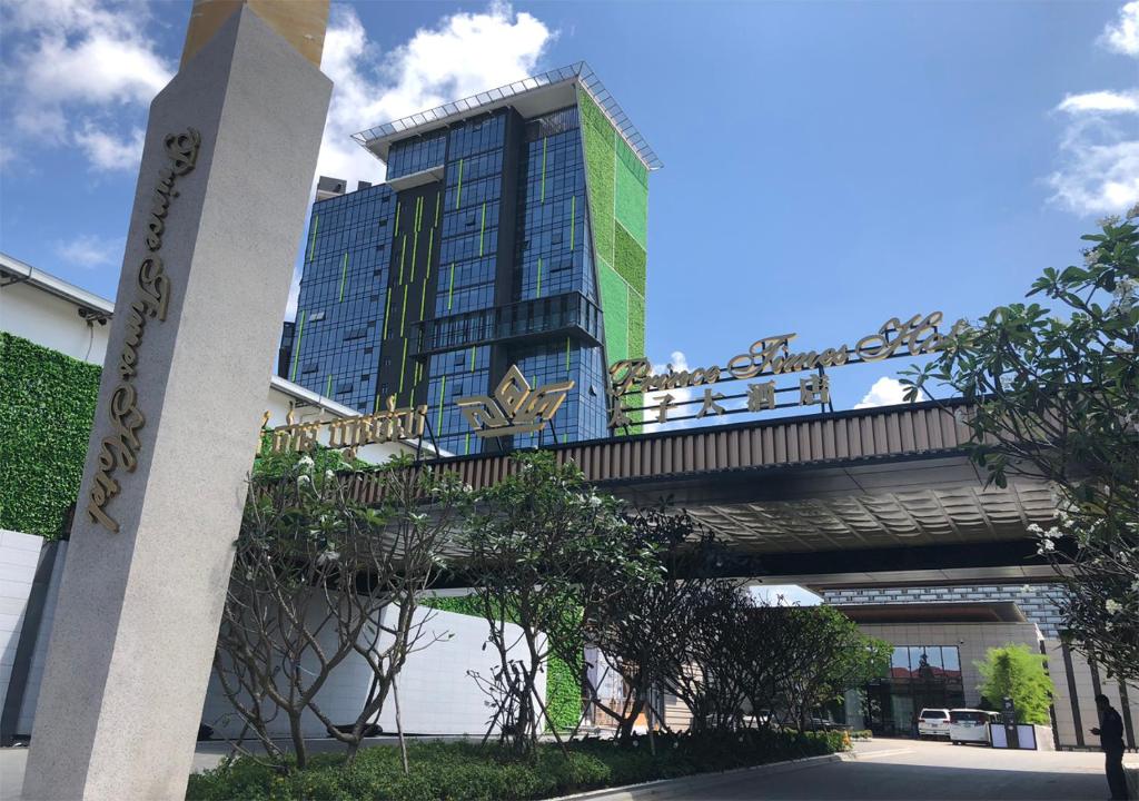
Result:
[[[304,5],[316,57],[230,2],[150,106],[25,798],[185,795],[331,92]]]

